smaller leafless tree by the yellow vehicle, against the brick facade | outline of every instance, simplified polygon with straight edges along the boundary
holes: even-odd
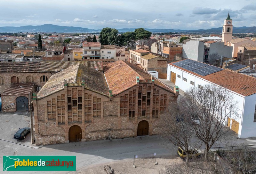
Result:
[[[188,118],[189,108],[186,105],[186,98],[179,96],[179,100],[170,103],[166,113],[161,115],[160,134],[172,144],[183,147],[187,156],[190,155],[192,146],[191,139],[193,137],[193,128]],[[182,109],[181,109],[182,108]],[[185,157],[188,166],[188,157]]]

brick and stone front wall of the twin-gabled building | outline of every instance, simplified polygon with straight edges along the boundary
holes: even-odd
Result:
[[[150,92],[150,105],[145,104],[145,107],[143,103],[141,106],[138,105],[139,92],[142,93],[142,96],[147,96],[148,92]],[[72,100],[76,100],[79,96],[82,97],[82,110],[80,115],[82,121],[78,120],[72,122],[71,119],[76,120],[76,115],[79,115],[77,112],[80,111],[77,111],[76,107],[72,107],[72,110],[67,110],[68,97],[71,97]],[[153,98],[155,98],[156,101],[153,101]],[[148,121],[149,135],[156,134],[155,129],[158,127],[156,120],[158,120],[161,113],[164,112],[163,109],[168,105],[169,101],[167,101],[167,98],[176,97],[174,94],[155,86],[154,83],[134,86],[114,96],[112,101],[106,96],[88,91],[83,87],[65,86],[63,91],[33,101],[36,144],[69,142],[68,131],[73,125],[81,127],[82,141],[137,136],[138,124],[142,120]],[[97,109],[96,105],[94,105],[94,101],[100,101],[97,103]],[[55,103],[55,105],[53,105],[53,103]],[[89,109],[90,107],[91,111]],[[146,116],[142,116],[141,114],[143,108],[146,111]],[[152,111],[154,110],[155,112],[155,109],[159,111],[158,116],[153,115]],[[131,111],[131,113],[134,111],[135,115],[130,117],[129,111]],[[55,114],[55,116],[52,119],[51,116],[53,116],[53,114]],[[60,123],[61,118],[64,120],[62,123]]]

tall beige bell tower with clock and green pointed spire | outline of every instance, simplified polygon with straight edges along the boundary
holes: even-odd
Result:
[[[224,25],[222,29],[221,42],[224,42],[224,45],[227,45],[227,41],[232,40],[232,33],[233,33],[232,19],[230,19],[229,11],[228,11],[228,18],[224,20]]]

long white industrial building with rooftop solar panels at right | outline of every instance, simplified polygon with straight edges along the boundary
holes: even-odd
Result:
[[[233,121],[230,128],[239,138],[256,137],[256,78],[185,59],[168,64],[167,79],[183,91],[209,84],[225,86],[237,101],[237,112],[225,124]]]

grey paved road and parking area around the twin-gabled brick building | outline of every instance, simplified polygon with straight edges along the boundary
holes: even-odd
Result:
[[[5,123],[3,121],[9,120]],[[9,139],[13,142],[12,136],[15,133],[18,125],[29,124],[28,116],[4,114],[0,115],[0,138]],[[13,122],[14,126],[11,126]],[[3,124],[1,124],[3,123]],[[9,125],[10,124],[10,125]],[[15,126],[16,125],[16,126]],[[18,127],[19,128],[19,127]],[[6,132],[5,132],[6,131]],[[26,137],[24,144],[29,145],[29,136]],[[27,141],[27,142],[26,142]],[[196,140],[194,140],[196,141]],[[256,145],[256,138],[239,139],[233,131],[218,141],[215,146],[234,145],[235,143],[248,143]],[[202,146],[201,149],[204,149]],[[81,170],[92,166],[110,163],[111,160],[120,160],[133,158],[134,155],[153,154],[157,157],[168,156],[169,158],[177,158],[177,147],[172,143],[164,140],[158,135],[140,136],[135,138],[124,138],[115,140],[74,142],[68,144],[54,144],[43,146],[41,149],[32,149],[7,141],[0,140],[0,165],[3,167],[3,156],[76,156],[76,169]],[[102,166],[102,165],[100,165]],[[0,169],[1,170],[1,169]],[[5,172],[8,173],[8,172]],[[9,172],[13,173],[13,172]],[[20,171],[20,174],[32,174],[35,172]],[[40,173],[51,173],[41,172]],[[73,172],[52,172],[52,173],[73,173]]]

